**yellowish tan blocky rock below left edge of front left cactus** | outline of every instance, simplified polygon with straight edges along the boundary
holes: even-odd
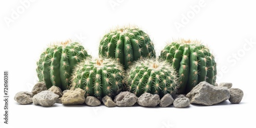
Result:
[[[86,97],[84,97],[84,92],[82,89],[77,88],[75,90],[65,90],[63,91],[63,95],[61,97],[62,104],[64,105],[75,105],[75,104],[83,104],[86,101]]]

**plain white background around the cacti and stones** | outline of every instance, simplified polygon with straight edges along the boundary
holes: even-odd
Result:
[[[4,70],[10,73],[10,124],[3,123],[1,100],[0,127],[255,127],[254,1],[27,1],[25,5],[24,1],[0,2],[0,78]],[[36,61],[50,42],[77,39],[97,56],[100,38],[117,25],[129,24],[150,35],[158,55],[173,39],[202,40],[216,55],[218,82],[242,89],[242,102],[186,109],[62,104],[44,108],[13,100],[17,92],[31,91]],[[177,28],[177,24],[183,25]]]

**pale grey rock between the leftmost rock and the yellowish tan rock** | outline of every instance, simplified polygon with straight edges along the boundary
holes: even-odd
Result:
[[[33,96],[33,104],[41,106],[51,106],[59,98],[59,95],[51,91],[41,91]]]

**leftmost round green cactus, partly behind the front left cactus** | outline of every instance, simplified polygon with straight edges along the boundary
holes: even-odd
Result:
[[[73,68],[80,60],[90,57],[87,51],[78,43],[67,40],[50,45],[37,61],[37,76],[39,81],[46,83],[47,89],[52,86],[62,91],[70,87],[70,76]]]

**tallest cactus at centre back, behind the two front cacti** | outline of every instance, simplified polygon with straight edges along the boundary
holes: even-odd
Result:
[[[100,41],[99,55],[115,58],[124,69],[143,57],[156,57],[153,42],[142,30],[122,27],[105,34]]]

